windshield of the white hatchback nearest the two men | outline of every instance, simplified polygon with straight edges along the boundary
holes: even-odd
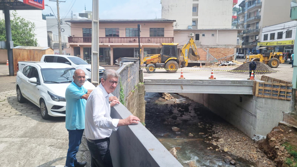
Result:
[[[45,83],[72,82],[75,68],[42,68],[41,75]]]

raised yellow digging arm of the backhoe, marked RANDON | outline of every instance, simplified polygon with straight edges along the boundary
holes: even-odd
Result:
[[[195,55],[189,54],[189,49],[192,48]],[[200,59],[200,55],[197,50],[197,46],[193,38],[190,38],[189,41],[181,48],[181,55],[184,57],[185,66],[188,66],[188,59],[192,61],[197,61]]]

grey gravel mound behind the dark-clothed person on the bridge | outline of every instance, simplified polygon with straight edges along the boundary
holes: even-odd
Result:
[[[270,73],[275,73],[276,70],[273,70],[270,68],[268,65],[261,63],[261,62],[256,62],[257,68],[256,71],[269,71],[269,72],[255,72],[255,74],[270,74]],[[249,74],[249,63],[242,64],[241,66],[234,68],[233,70],[236,71],[230,71],[231,73],[246,73]],[[247,72],[240,72],[240,71],[247,71]]]

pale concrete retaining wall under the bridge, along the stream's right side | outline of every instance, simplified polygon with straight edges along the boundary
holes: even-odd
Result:
[[[238,94],[180,93],[203,104],[212,112],[247,134],[266,136],[290,112],[290,101]]]

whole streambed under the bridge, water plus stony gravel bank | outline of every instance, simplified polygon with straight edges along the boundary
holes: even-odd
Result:
[[[203,105],[177,94],[146,93],[146,127],[183,166],[256,166],[273,162],[248,136]],[[176,127],[176,128],[173,128]],[[230,156],[236,163],[226,161]],[[224,161],[225,159],[225,161]]]

